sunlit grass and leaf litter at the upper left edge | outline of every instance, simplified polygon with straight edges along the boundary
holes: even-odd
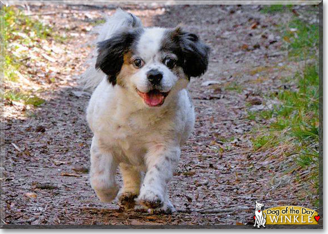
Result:
[[[40,43],[41,40],[54,39],[54,41],[60,42],[61,36],[58,32],[54,32],[50,26],[43,24],[40,20],[26,16],[23,11],[15,6],[4,7],[2,13],[4,13],[2,23],[4,26],[3,39],[6,51],[3,58],[4,75],[5,81],[8,82],[7,86],[10,87],[10,82],[19,83],[22,75],[26,79],[31,77],[30,74],[26,73],[30,68],[26,65],[24,59],[32,56],[31,53],[33,53],[33,48],[37,47],[43,49]],[[35,60],[36,59],[30,59],[29,61],[33,64],[36,62]],[[45,100],[33,94],[34,91],[32,91],[32,87],[25,84],[21,87],[21,90],[16,88],[15,91],[11,88],[7,88],[7,90],[2,93],[2,97],[7,100],[32,104],[34,106],[39,106],[44,103]]]

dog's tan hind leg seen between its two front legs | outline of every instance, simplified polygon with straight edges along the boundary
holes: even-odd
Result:
[[[119,206],[124,209],[133,209],[140,191],[141,172],[126,163],[120,163],[120,171],[123,177],[123,188],[118,195]]]

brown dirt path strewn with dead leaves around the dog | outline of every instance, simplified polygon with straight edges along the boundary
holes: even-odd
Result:
[[[247,119],[247,109],[264,108],[263,93],[278,90],[279,78],[297,69],[286,61],[277,32],[288,14],[268,17],[252,5],[128,8],[146,26],[183,23],[212,48],[207,73],[190,83],[196,126],[169,186],[180,212],[157,216],[142,210],[121,213],[116,202],[99,203],[85,173],[92,137],[85,121],[90,94],[77,77],[93,38],[87,32],[101,12],[113,9],[48,5],[30,10],[58,12],[40,18],[55,22],[71,38],[57,45],[64,51],[53,64],[61,68],[60,79],[45,86],[46,102],[28,115],[21,114],[21,106],[5,106],[7,224],[250,224],[256,200],[267,207],[308,207],[297,184],[286,186],[292,178],[284,174],[284,164],[252,150],[255,123]],[[220,84],[204,86],[204,81]]]

